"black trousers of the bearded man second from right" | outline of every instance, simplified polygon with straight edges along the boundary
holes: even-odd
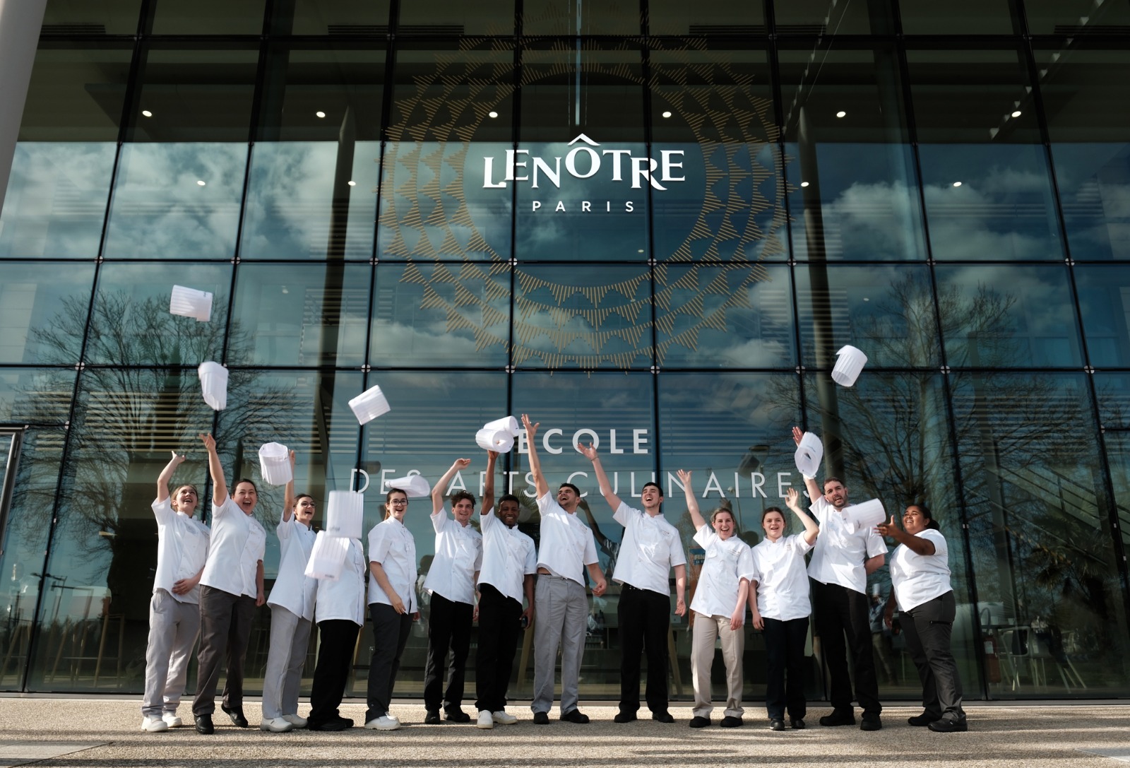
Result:
[[[879,704],[879,680],[875,674],[875,656],[871,653],[871,623],[868,621],[870,607],[867,595],[847,589],[838,584],[822,584],[810,579],[812,585],[812,621],[820,638],[824,663],[831,678],[832,706],[851,709],[851,676],[847,673],[847,649],[851,649],[855,667],[855,700],[866,714],[883,711]],[[847,637],[846,645],[844,636]]]

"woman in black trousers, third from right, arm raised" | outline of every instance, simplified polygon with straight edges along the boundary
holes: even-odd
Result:
[[[762,512],[763,538],[753,549],[754,575],[750,579],[749,610],[754,628],[765,633],[765,709],[770,727],[784,731],[789,723],[805,727],[808,704],[805,701],[805,638],[808,637],[808,573],[805,554],[812,549],[820,529],[800,508],[800,494],[789,489],[785,503],[805,528],[802,534],[785,536],[784,514],[777,507]],[[788,679],[785,678],[788,673]]]

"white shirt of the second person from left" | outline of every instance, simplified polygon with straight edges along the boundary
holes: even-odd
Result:
[[[212,504],[212,534],[200,584],[229,595],[259,596],[255,570],[267,550],[267,532],[228,494]]]

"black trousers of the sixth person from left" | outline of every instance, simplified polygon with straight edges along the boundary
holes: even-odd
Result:
[[[427,663],[424,665],[424,708],[440,708],[440,689],[443,688],[443,668],[447,650],[447,689],[443,691],[443,707],[459,709],[463,700],[463,678],[467,674],[467,651],[471,648],[471,622],[475,606],[457,603],[437,592],[432,593],[432,613],[427,622]]]

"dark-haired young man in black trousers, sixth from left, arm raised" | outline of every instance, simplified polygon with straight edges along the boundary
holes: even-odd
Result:
[[[452,517],[444,508],[443,492],[454,476],[470,466],[470,459],[455,459],[432,489],[432,527],[435,529],[435,556],[428,568],[424,589],[431,595],[427,625],[427,661],[424,664],[424,722],[436,725],[440,707],[452,723],[468,723],[471,716],[460,705],[467,653],[471,649],[475,621],[475,583],[483,567],[483,535],[469,524],[475,514],[475,495],[468,491],[451,494]],[[447,666],[447,688],[443,671]]]

